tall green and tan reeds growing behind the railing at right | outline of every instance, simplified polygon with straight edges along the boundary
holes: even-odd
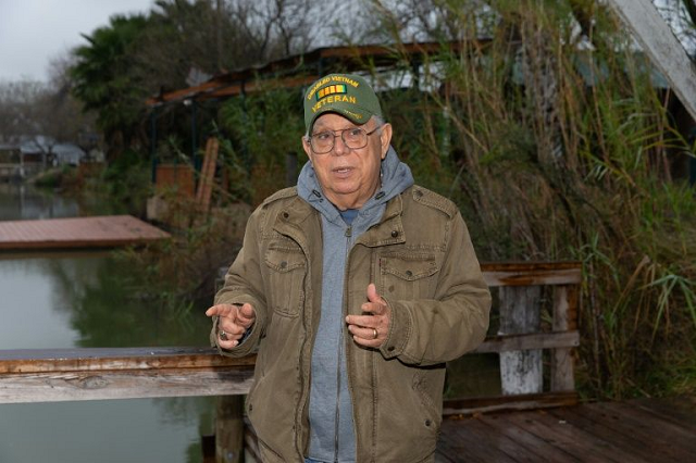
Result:
[[[482,259],[582,261],[585,393],[696,391],[696,199],[670,171],[693,147],[669,89],[593,2],[492,1],[489,21],[437,3],[460,48],[424,64],[437,91],[387,99],[397,150],[460,204]]]

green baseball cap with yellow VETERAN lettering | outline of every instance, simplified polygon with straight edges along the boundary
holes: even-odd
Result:
[[[304,93],[304,126],[309,132],[316,117],[338,113],[362,125],[373,115],[382,117],[380,100],[368,82],[352,74],[330,74],[314,82]]]

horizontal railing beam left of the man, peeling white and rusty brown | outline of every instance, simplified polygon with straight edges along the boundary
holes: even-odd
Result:
[[[0,403],[244,395],[256,356],[213,349],[0,351]]]

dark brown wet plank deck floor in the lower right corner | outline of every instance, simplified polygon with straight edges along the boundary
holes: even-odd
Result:
[[[597,402],[446,418],[436,461],[693,462],[696,398]]]

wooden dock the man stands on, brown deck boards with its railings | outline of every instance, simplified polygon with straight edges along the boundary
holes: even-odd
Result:
[[[572,356],[563,354],[577,343],[572,287],[580,271],[571,267],[558,264],[552,272],[550,264],[484,265],[493,287],[556,288],[554,331],[495,336],[476,350],[550,351],[550,390],[446,401],[436,462],[694,461],[696,397],[576,404]],[[247,425],[237,435],[241,426],[235,423],[243,420],[243,395],[253,381],[254,363],[254,355],[232,359],[210,348],[0,351],[0,404],[223,396],[216,441],[207,436],[202,448],[219,456],[244,453],[250,463],[259,461],[253,428]],[[204,454],[203,461],[215,456]]]

